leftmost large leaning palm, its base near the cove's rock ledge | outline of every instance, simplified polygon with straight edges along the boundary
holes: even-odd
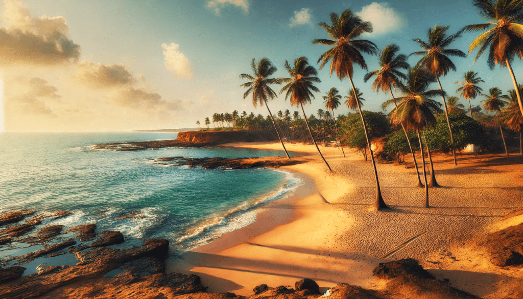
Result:
[[[253,105],[256,107],[258,104],[260,106],[267,107],[267,110],[270,115],[270,119],[272,119],[272,125],[274,126],[274,129],[276,130],[276,134],[278,135],[278,139],[280,140],[281,146],[283,147],[283,150],[285,151],[285,154],[287,155],[287,158],[289,160],[291,157],[289,156],[289,153],[287,152],[287,149],[285,148],[285,145],[283,145],[283,141],[281,140],[280,133],[278,132],[278,129],[276,128],[276,122],[274,121],[274,117],[272,117],[272,113],[270,113],[269,106],[267,105],[267,99],[273,99],[276,97],[276,93],[272,90],[272,88],[269,87],[270,84],[281,84],[279,79],[276,78],[269,78],[272,74],[274,74],[277,69],[272,65],[269,59],[262,58],[260,61],[256,64],[256,60],[253,58],[251,62],[251,68],[253,70],[254,76],[248,75],[248,74],[241,74],[241,79],[247,79],[252,80],[251,82],[244,83],[240,86],[243,86],[245,88],[249,88],[244,94],[243,98],[247,98],[247,96],[252,92],[253,93]]]

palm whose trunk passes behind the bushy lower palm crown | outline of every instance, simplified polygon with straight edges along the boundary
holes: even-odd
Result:
[[[374,79],[374,82],[372,82],[372,91],[376,91],[378,93],[380,90],[382,90],[385,94],[390,92],[392,98],[394,98],[394,94],[392,93],[392,86],[394,86],[395,90],[396,87],[402,85],[401,80],[405,80],[407,77],[405,74],[400,72],[400,70],[408,70],[410,67],[410,65],[407,63],[407,56],[405,56],[405,54],[399,54],[396,56],[398,51],[400,51],[400,47],[394,43],[386,46],[378,57],[378,62],[381,68],[379,70],[369,72],[363,77],[363,81],[367,82],[371,77],[376,76],[376,79]],[[396,103],[394,103],[394,105],[397,106]],[[412,150],[411,140],[408,138],[408,132],[405,130],[405,126],[402,124],[401,127],[405,132],[408,148],[411,150],[414,168],[416,169],[418,187],[423,187],[422,181],[419,179],[418,164],[416,162],[414,151]]]

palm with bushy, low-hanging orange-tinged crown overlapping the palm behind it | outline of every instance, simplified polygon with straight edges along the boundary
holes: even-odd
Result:
[[[416,130],[417,132],[419,148],[422,154],[423,177],[425,180],[425,207],[427,208],[429,207],[429,184],[427,184],[425,155],[423,153],[423,142],[419,131],[423,131],[427,126],[436,123],[434,113],[439,110],[438,106],[441,104],[434,101],[434,99],[431,99],[431,97],[445,95],[445,92],[442,90],[428,90],[430,84],[435,82],[437,82],[437,79],[434,74],[431,74],[424,69],[412,68],[407,73],[405,85],[399,87],[403,96],[389,99],[383,104],[383,108],[386,108],[393,103],[399,103],[397,104],[397,107],[392,109],[390,114],[392,123],[396,125],[403,123],[406,129]],[[430,152],[428,147],[427,152]],[[434,176],[434,169],[431,169],[430,173],[431,176]]]

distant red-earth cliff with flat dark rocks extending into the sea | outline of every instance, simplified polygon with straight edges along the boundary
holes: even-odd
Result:
[[[275,131],[258,134],[248,131],[190,131],[179,132],[175,140],[130,141],[95,145],[95,149],[136,151],[169,147],[208,147],[231,142],[253,142],[277,140]]]

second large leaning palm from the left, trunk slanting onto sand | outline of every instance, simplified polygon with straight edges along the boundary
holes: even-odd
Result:
[[[316,69],[314,69],[314,67],[312,67],[312,65],[309,65],[308,59],[304,56],[294,59],[294,64],[292,66],[289,64],[287,60],[285,61],[284,65],[290,77],[280,78],[281,82],[287,83],[285,86],[283,86],[283,88],[281,88],[280,94],[286,92],[285,99],[287,100],[287,98],[290,97],[291,106],[300,105],[303,115],[306,115],[305,110],[303,109],[303,104],[311,103],[311,97],[314,98],[314,95],[312,94],[311,90],[314,92],[320,92],[320,90],[312,84],[314,82],[321,82],[321,80],[318,77],[315,77],[315,75],[317,75],[318,72],[316,71]],[[323,158],[323,154],[320,151],[320,148],[318,147],[316,140],[314,140],[314,136],[312,136],[309,121],[306,117],[304,118],[305,124],[307,124],[309,134],[311,135],[312,141],[314,141],[314,145],[316,146],[318,153],[320,153],[320,156],[322,157],[323,161],[325,162],[325,164],[327,164],[328,169],[332,171],[325,158]]]

